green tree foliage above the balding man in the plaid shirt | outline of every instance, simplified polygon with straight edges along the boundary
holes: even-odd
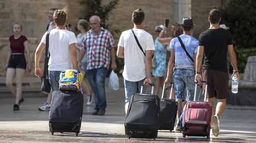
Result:
[[[80,0],[80,4],[86,4],[89,8],[88,14],[85,15],[87,21],[93,15],[98,15],[101,18],[101,27],[105,29],[109,28],[107,20],[109,19],[109,12],[111,12],[118,4],[118,0],[111,0],[108,4],[102,5],[102,0]],[[118,30],[111,30],[112,32],[118,32]]]

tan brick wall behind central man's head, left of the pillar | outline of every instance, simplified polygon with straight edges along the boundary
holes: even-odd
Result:
[[[109,1],[104,0],[104,3]],[[121,32],[133,28],[132,12],[138,8],[145,12],[144,30],[152,34],[153,38],[157,36],[154,31],[156,25],[163,24],[165,19],[170,19],[169,23],[173,23],[173,0],[119,0],[116,9],[110,13],[110,28]],[[120,35],[121,33],[115,34],[114,38],[119,39]]]

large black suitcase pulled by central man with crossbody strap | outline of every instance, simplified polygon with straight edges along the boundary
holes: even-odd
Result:
[[[159,97],[153,94],[134,93],[130,97],[125,120],[125,133],[130,138],[156,139],[159,123]]]

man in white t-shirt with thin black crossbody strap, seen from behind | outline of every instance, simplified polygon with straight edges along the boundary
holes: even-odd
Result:
[[[148,83],[151,83],[151,57],[154,50],[152,35],[143,30],[145,14],[141,8],[133,12],[132,22],[134,34],[132,30],[123,31],[117,51],[117,57],[124,58],[125,61],[123,71],[126,94],[125,112],[127,112],[130,96],[133,93],[140,93],[142,85],[149,87]],[[136,43],[134,35],[138,38],[143,51]]]

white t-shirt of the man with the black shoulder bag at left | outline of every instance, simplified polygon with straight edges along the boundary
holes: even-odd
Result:
[[[46,43],[46,35],[41,42]],[[49,35],[49,68],[50,71],[62,71],[72,69],[69,45],[77,43],[75,34],[66,29],[53,29]]]

